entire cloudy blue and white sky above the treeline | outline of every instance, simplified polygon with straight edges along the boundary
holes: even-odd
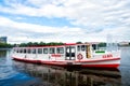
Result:
[[[130,41],[130,0],[0,0],[9,43]]]

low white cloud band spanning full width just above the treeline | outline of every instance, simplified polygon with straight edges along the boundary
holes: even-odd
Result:
[[[100,31],[88,31],[82,28],[49,27],[27,23],[17,23],[5,17],[0,17],[1,35],[8,35],[10,43],[21,42],[77,42],[77,41],[106,41],[107,33],[118,40],[129,40],[130,30],[126,27],[105,28]],[[8,25],[8,26],[6,26]],[[126,37],[128,35],[128,37]],[[37,39],[37,40],[36,40]]]

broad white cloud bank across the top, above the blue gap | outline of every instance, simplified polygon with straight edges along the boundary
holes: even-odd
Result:
[[[24,3],[8,1],[11,8],[1,6],[1,12],[28,16],[66,17],[77,26],[106,26],[114,19],[113,25],[118,25],[121,15],[130,12],[129,0],[26,0]]]

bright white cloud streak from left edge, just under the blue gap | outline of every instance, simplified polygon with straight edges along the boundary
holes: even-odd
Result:
[[[49,27],[49,26],[40,26],[40,25],[34,25],[34,24],[27,24],[27,23],[16,23],[5,17],[0,17],[0,26],[6,26],[10,28],[20,29],[23,31],[30,31],[30,32],[42,32],[42,33],[54,33],[54,32],[72,32],[72,31],[80,31],[80,28],[69,28],[69,27],[63,27],[63,28],[56,28],[56,27]]]

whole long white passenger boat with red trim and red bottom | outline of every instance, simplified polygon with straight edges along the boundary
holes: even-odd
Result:
[[[14,47],[13,59],[61,67],[117,68],[120,51],[93,49],[92,44]]]

